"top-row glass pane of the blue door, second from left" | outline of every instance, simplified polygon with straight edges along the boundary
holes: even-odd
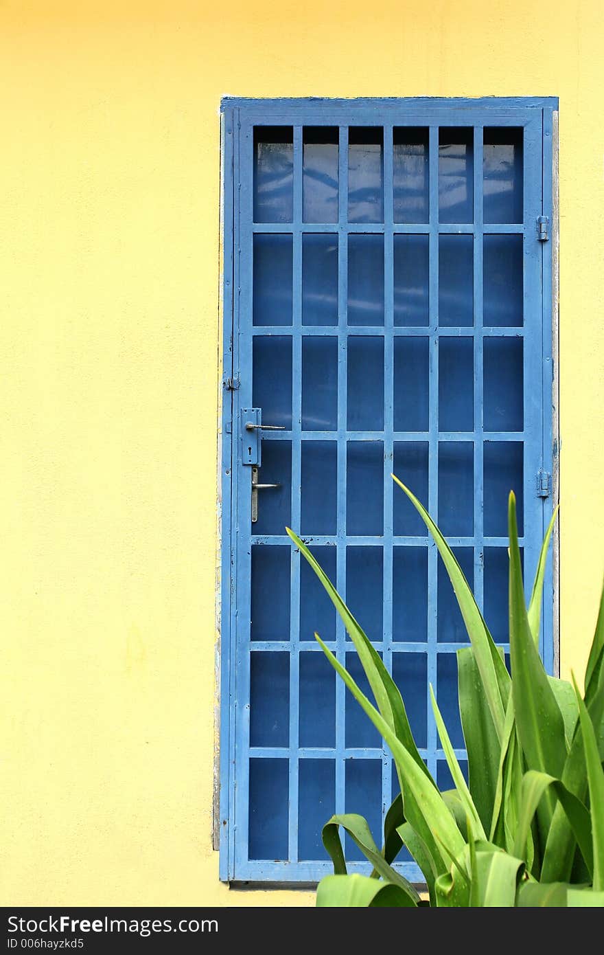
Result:
[[[338,222],[338,129],[306,126],[302,153],[302,220]]]

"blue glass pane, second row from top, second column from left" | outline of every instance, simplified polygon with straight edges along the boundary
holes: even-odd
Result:
[[[302,236],[302,325],[338,324],[338,237]]]

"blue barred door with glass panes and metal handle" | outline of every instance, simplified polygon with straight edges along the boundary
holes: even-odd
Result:
[[[309,543],[401,687],[448,788],[467,642],[427,505],[507,649],[507,498],[531,578],[552,512],[552,100],[227,100],[221,878],[330,871],[334,812],[381,842],[389,753],[285,535]],[[552,668],[552,577],[541,648]],[[350,871],[364,871],[354,845]],[[421,879],[408,859],[402,870]]]

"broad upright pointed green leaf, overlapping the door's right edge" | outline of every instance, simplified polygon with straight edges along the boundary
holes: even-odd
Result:
[[[516,729],[529,769],[559,778],[567,754],[564,721],[529,626],[518,547],[516,499],[512,492],[508,523],[511,687]],[[546,792],[537,815],[544,839],[550,828],[553,809],[553,795]]]

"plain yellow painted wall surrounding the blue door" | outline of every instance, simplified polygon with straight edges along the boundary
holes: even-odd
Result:
[[[307,904],[211,849],[219,100],[560,97],[562,665],[601,579],[600,0],[0,0],[5,904]]]

